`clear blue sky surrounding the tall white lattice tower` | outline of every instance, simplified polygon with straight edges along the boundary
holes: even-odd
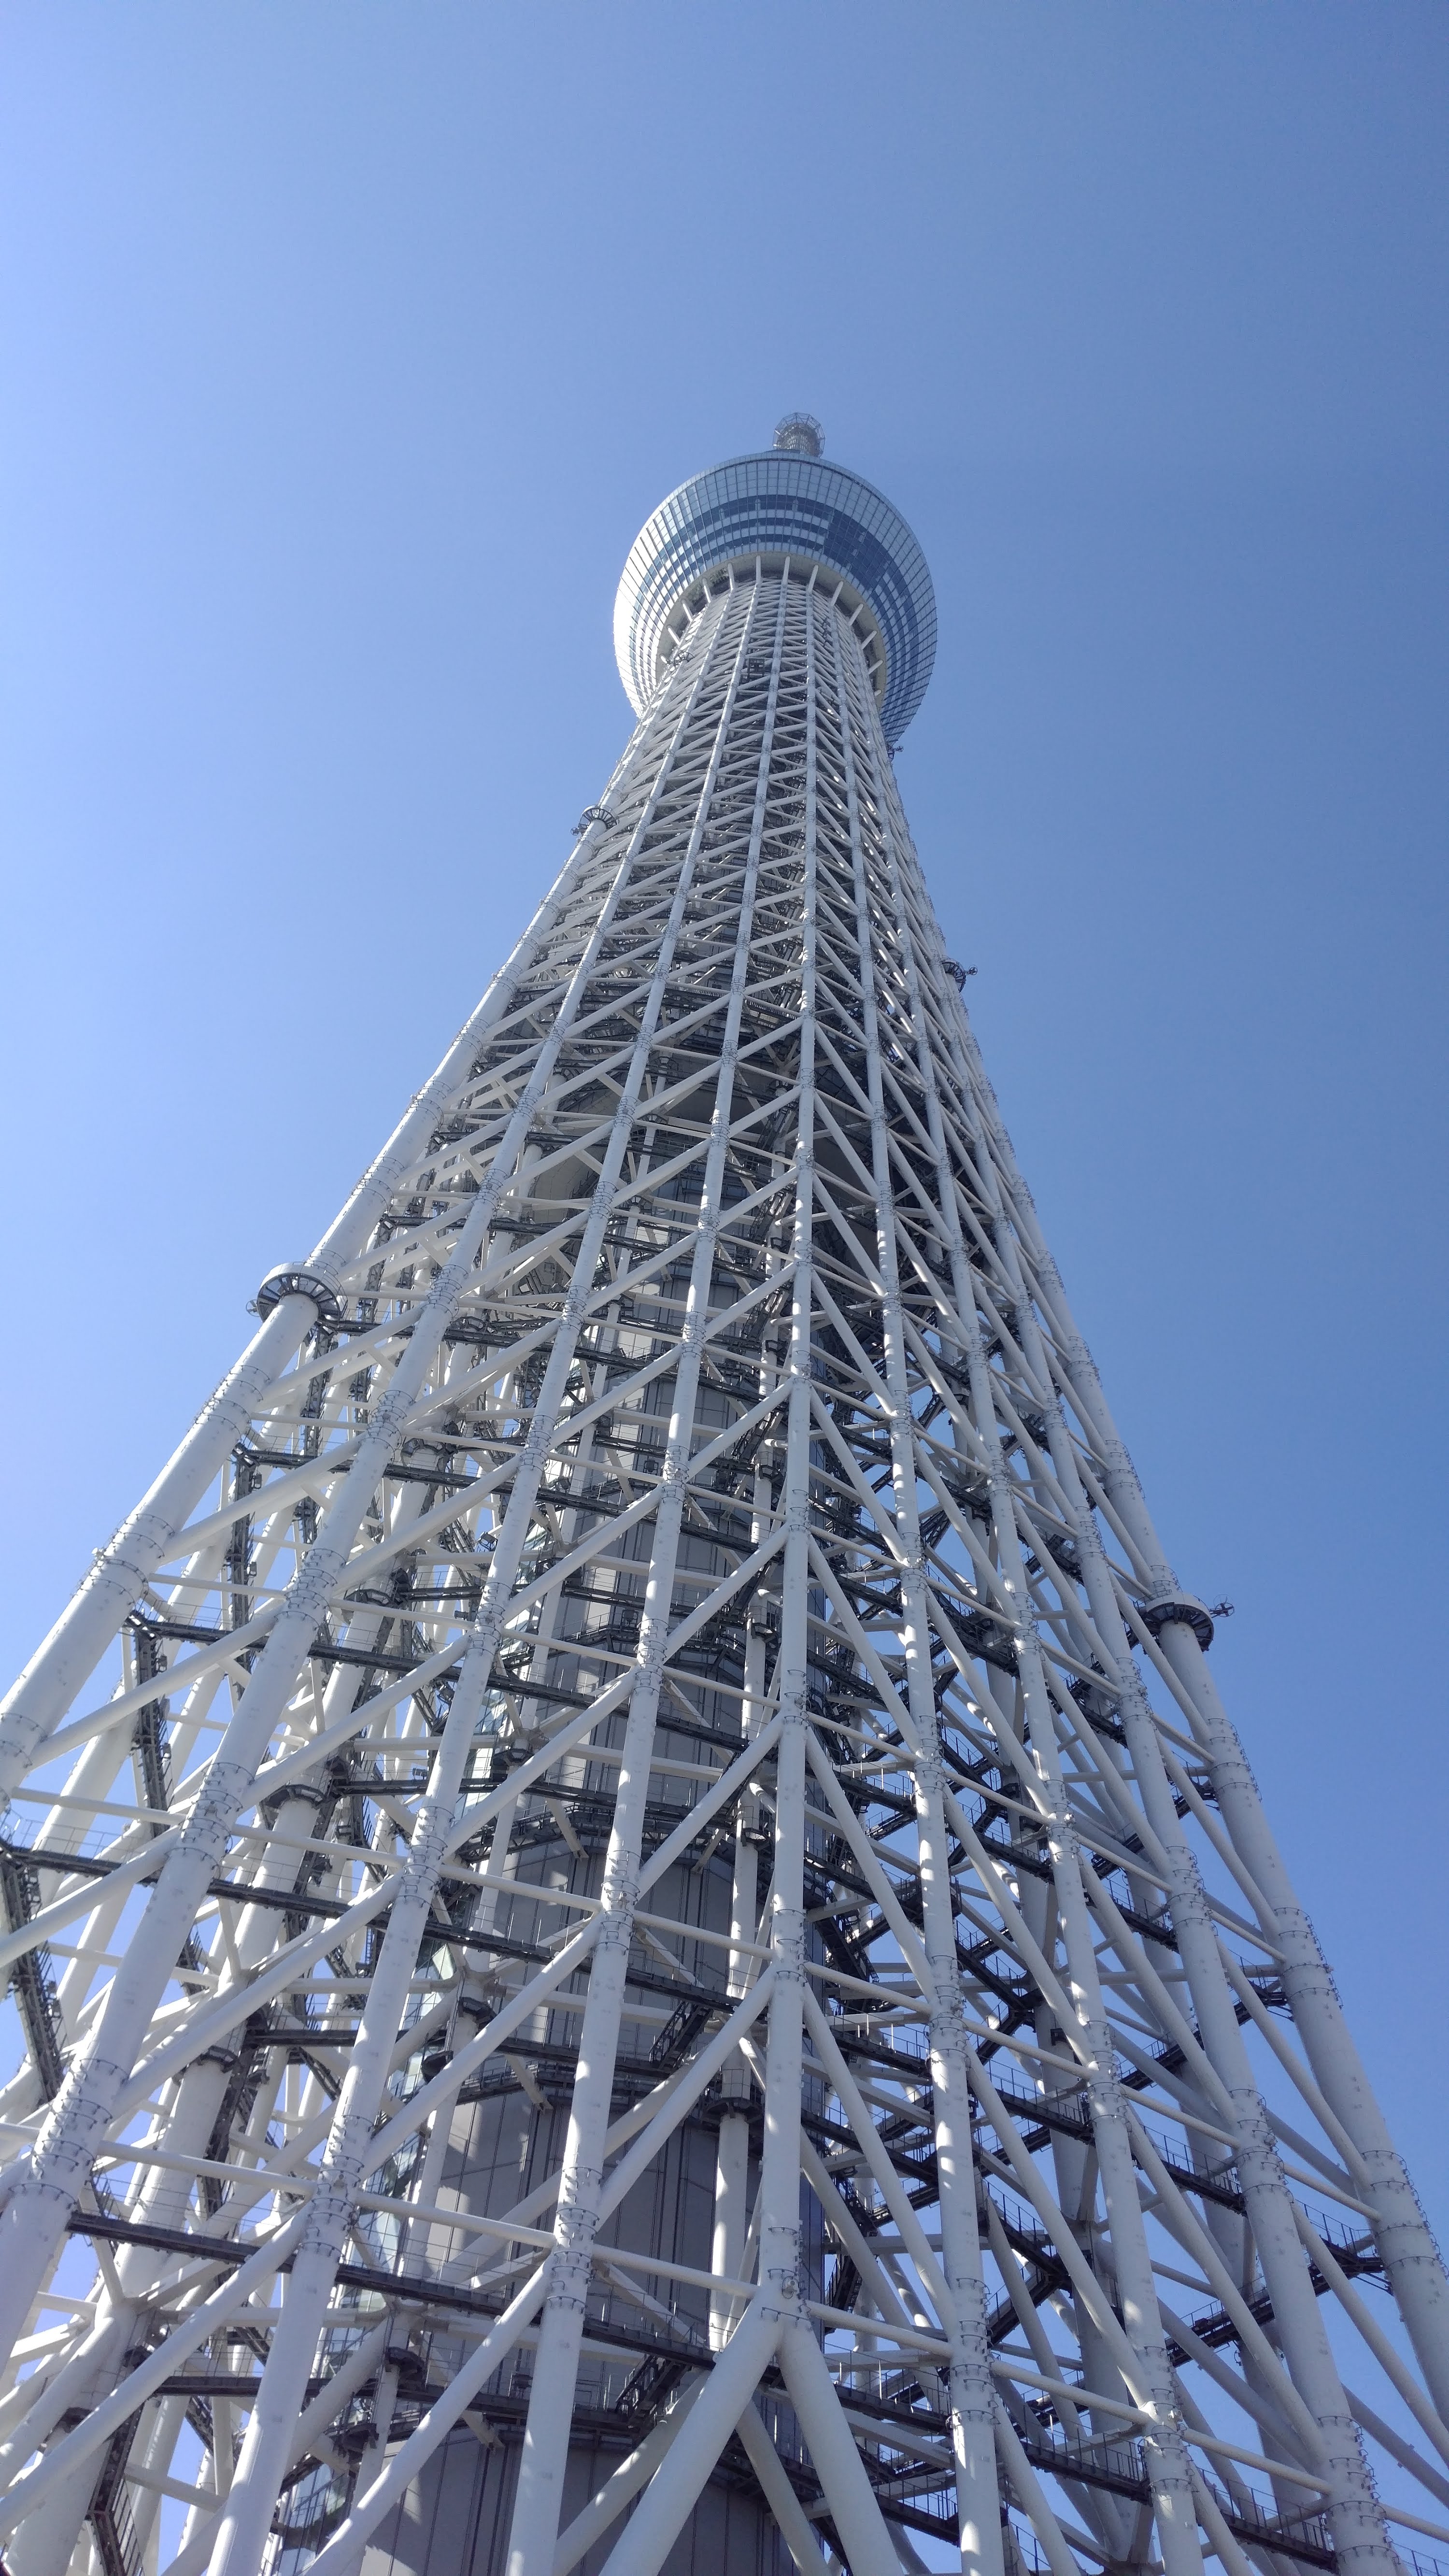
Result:
[[[947,943],[1444,2223],[1449,8],[0,36],[5,1662],[558,868],[638,523],[806,407],[932,562]]]

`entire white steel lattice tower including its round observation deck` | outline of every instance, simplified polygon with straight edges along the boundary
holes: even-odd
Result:
[[[1444,2532],[1444,2269],[906,832],[932,644],[813,422],[664,502],[558,884],[5,1703],[13,2576]]]

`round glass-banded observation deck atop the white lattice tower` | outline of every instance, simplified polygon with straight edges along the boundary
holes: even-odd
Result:
[[[813,420],[780,422],[775,446],[692,474],[638,531],[615,598],[615,657],[643,714],[713,574],[818,564],[865,659],[891,747],[906,732],[937,657],[937,598],[901,513],[849,466],[826,464]]]

